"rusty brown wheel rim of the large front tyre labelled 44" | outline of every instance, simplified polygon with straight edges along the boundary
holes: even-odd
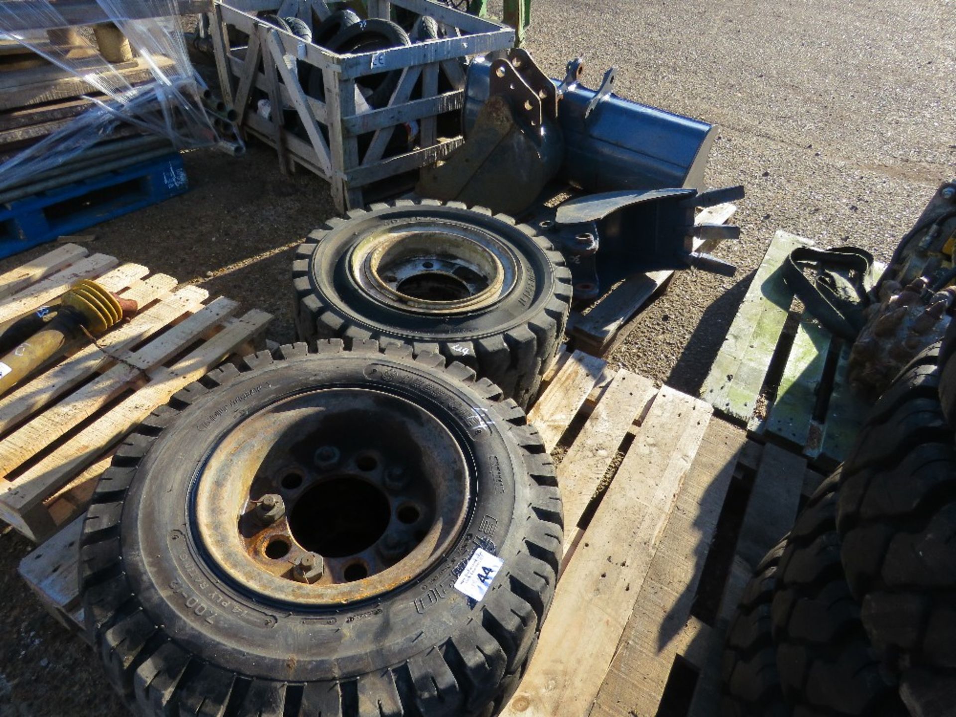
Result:
[[[229,577],[322,605],[422,575],[461,531],[470,489],[461,447],[423,407],[330,388],[236,426],[194,494],[196,533]]]

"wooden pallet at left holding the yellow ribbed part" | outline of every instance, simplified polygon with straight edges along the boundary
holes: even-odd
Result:
[[[0,519],[41,541],[81,514],[111,449],[187,383],[252,350],[272,316],[165,274],[65,244],[0,275],[0,322],[54,301],[81,278],[139,303],[96,344],[0,398]]]

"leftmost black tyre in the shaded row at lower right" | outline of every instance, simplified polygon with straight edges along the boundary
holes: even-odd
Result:
[[[790,717],[776,669],[771,602],[786,538],[760,561],[727,633],[721,663],[724,717]]]

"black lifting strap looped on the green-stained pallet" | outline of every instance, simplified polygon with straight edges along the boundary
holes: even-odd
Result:
[[[807,278],[805,269],[815,272],[815,281]],[[856,340],[863,310],[872,300],[873,254],[857,247],[800,247],[784,262],[783,279],[831,334]]]

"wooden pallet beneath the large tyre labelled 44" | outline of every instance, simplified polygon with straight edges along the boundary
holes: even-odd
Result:
[[[546,380],[530,418],[558,461],[565,556],[537,651],[503,714],[714,714],[737,600],[823,476],[802,456],[748,440],[705,402],[602,359],[565,352]],[[70,524],[20,572],[82,635],[80,529]]]

